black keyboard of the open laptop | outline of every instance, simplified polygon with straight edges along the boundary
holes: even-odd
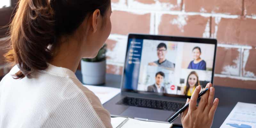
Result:
[[[185,104],[170,102],[170,101],[161,101],[161,100],[150,100],[134,97],[125,97],[124,99],[118,101],[116,104],[127,105],[127,106],[136,106],[143,108],[154,108],[160,110],[169,110],[169,111],[178,111]]]

